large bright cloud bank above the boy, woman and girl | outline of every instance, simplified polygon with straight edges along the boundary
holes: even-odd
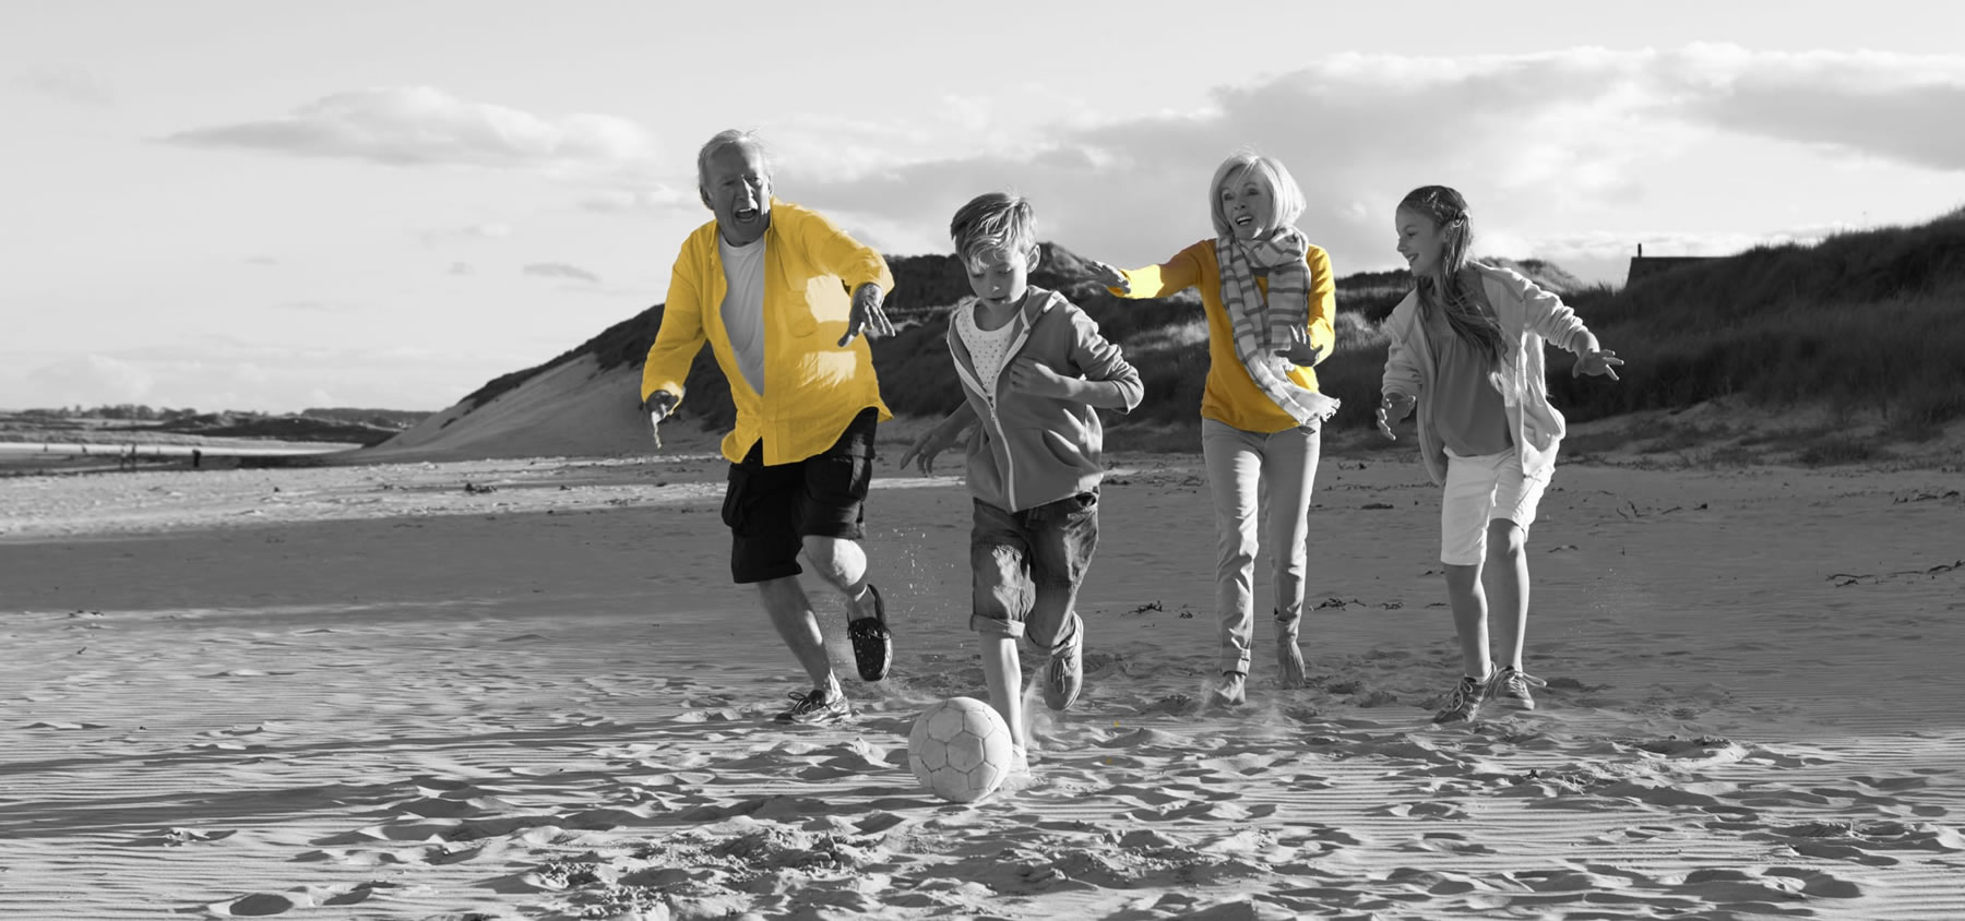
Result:
[[[1210,234],[1207,181],[1234,147],[1254,145],[1295,171],[1313,240],[1340,267],[1362,269],[1391,263],[1391,204],[1419,185],[1462,187],[1491,228],[1548,226],[1552,216],[1603,224],[1662,196],[1700,167],[1688,161],[1694,151],[1727,137],[1965,171],[1955,112],[1965,112],[1965,55],[1733,45],[1342,53],[1218,86],[1191,112],[1051,126],[1024,149],[894,157],[849,175],[837,161],[804,169],[786,157],[778,192],[947,251],[941,234],[894,230],[943,228],[967,198],[1016,190],[1036,202],[1045,240],[1108,261],[1165,257]],[[1539,255],[1541,245],[1505,232],[1489,244],[1507,255]]]

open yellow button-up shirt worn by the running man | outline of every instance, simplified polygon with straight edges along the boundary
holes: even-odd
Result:
[[[839,338],[853,314],[853,291],[865,283],[894,291],[878,251],[861,245],[817,212],[772,198],[764,232],[764,397],[745,381],[723,328],[723,255],[717,222],[696,228],[676,255],[662,328],[641,371],[641,399],[682,393],[690,361],[709,342],[731,385],[737,426],[723,436],[723,456],[743,461],[764,440],[764,463],[796,463],[839,440],[863,408],[894,414],[880,403],[867,336],[847,348]]]

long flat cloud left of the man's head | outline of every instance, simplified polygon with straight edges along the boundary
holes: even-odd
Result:
[[[546,173],[633,169],[654,147],[654,139],[627,118],[546,118],[460,100],[434,86],[336,92],[287,116],[195,128],[165,141],[393,167],[466,165]]]

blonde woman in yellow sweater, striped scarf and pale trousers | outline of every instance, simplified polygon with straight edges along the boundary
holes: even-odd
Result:
[[[1267,499],[1275,560],[1275,662],[1283,687],[1303,687],[1305,540],[1320,428],[1338,401],[1317,391],[1313,365],[1334,340],[1330,257],[1293,224],[1303,190],[1271,157],[1238,151],[1208,183],[1214,236],[1161,265],[1120,271],[1093,263],[1114,295],[1167,297],[1193,287],[1208,316],[1208,381],[1201,397],[1201,452],[1214,493],[1220,552],[1220,681],[1212,703],[1246,703],[1256,628],[1258,497]]]

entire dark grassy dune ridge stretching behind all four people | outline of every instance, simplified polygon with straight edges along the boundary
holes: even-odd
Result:
[[[1572,381],[1572,359],[1550,355],[1550,391],[1574,422],[1633,410],[1674,410],[1731,397],[1753,406],[1875,410],[1890,434],[1932,438],[1965,416],[1965,210],[1924,226],[1843,234],[1814,245],[1753,249],[1643,279],[1623,291],[1584,287],[1544,261],[1507,261],[1562,297],[1629,363],[1623,381]],[[874,344],[882,395],[894,412],[933,416],[961,399],[943,346],[947,306],[969,293],[953,255],[890,257],[888,300],[900,332]],[[1146,377],[1146,401],[1108,416],[1122,448],[1193,450],[1207,375],[1207,326],[1189,291],[1122,300],[1089,279],[1083,259],[1043,244],[1032,281],[1063,291],[1118,342]],[[1370,430],[1385,340],[1377,324],[1411,289],[1403,271],[1338,279],[1338,348],[1319,367],[1344,401],[1332,430]],[[639,369],[662,322],[650,306],[538,367],[497,377],[460,403],[456,418],[536,375],[591,355],[599,373]],[[733,416],[729,389],[703,350],[692,365],[680,420],[711,430]],[[639,403],[633,387],[607,399]],[[1403,444],[1403,442],[1401,442]]]

